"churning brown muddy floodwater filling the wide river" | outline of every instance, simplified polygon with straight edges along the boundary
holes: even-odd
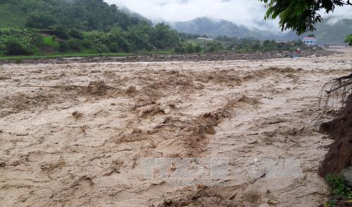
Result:
[[[351,55],[0,65],[0,206],[319,206],[318,96]],[[227,158],[228,176],[147,179],[142,158]],[[251,158],[301,177],[250,177]]]

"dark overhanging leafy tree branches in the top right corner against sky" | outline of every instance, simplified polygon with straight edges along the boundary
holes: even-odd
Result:
[[[314,31],[315,24],[322,21],[319,11],[334,12],[336,7],[350,5],[350,0],[259,0],[265,3],[268,11],[265,20],[279,17],[282,30],[295,30],[297,35]]]

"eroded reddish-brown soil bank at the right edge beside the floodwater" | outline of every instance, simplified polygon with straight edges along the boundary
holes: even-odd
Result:
[[[319,169],[320,174],[325,177],[328,174],[338,174],[352,165],[352,95],[348,97],[341,115],[330,123],[325,123],[323,127],[335,140],[329,146],[330,151]]]

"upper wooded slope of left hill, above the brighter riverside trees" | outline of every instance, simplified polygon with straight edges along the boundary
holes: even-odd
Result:
[[[102,0],[0,0],[0,26],[48,28],[54,25],[77,30],[126,30],[142,20],[109,6]]]

